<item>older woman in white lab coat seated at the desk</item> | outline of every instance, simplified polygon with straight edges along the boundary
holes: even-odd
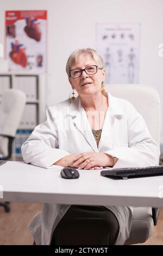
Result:
[[[158,145],[141,115],[128,101],[105,92],[101,56],[91,48],[76,50],[66,72],[72,97],[48,108],[47,120],[22,146],[24,161],[78,169],[158,164]],[[29,230],[37,245],[122,245],[132,217],[133,209],[127,206],[44,204]],[[71,218],[76,227],[68,228]]]

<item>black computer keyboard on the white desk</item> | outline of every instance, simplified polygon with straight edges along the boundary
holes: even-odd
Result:
[[[136,178],[142,176],[158,176],[163,175],[163,166],[149,166],[149,167],[136,167],[136,168],[118,168],[112,170],[102,170],[102,176],[120,177],[122,179]]]

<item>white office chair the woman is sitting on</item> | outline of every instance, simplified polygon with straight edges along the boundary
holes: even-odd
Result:
[[[153,139],[155,139],[156,143],[160,145],[161,114],[160,114],[160,99],[159,99],[158,92],[156,92],[156,90],[152,87],[143,86],[141,84],[110,84],[106,86],[106,89],[113,96],[126,99],[134,105],[136,110],[145,119],[149,132],[151,132]],[[91,210],[89,211],[89,214],[91,216]],[[151,236],[153,226],[156,225],[157,223],[158,215],[159,215],[158,208],[155,209],[155,208],[149,208],[149,207],[146,207],[146,208],[134,207],[134,215],[133,215],[133,222],[131,225],[130,236],[126,240],[124,245],[131,245],[135,243],[145,242]],[[76,219],[78,219],[78,216],[75,216],[75,217]],[[76,237],[76,241],[79,241],[79,244],[80,244],[80,237],[81,237],[81,232],[79,230],[79,227],[81,227],[81,229],[83,230],[83,225],[85,225],[85,230],[87,231],[89,230],[89,228],[91,228],[91,225],[89,226],[89,223],[87,221],[85,222],[85,224],[82,221],[81,223],[78,223],[77,221],[74,222],[74,218],[72,218],[71,216],[66,217],[65,223],[67,224],[68,227],[70,227],[70,229],[73,229],[76,231],[75,237]],[[99,225],[99,223],[97,224]],[[64,228],[60,229],[59,231],[60,231],[59,232],[60,236],[63,237],[62,238],[63,241],[66,241]],[[101,234],[101,229],[96,230],[96,233]],[[54,235],[53,237],[54,237],[54,244],[55,244],[55,230],[53,235]],[[104,244],[104,243],[101,243],[101,237],[99,237],[99,245],[101,244]]]

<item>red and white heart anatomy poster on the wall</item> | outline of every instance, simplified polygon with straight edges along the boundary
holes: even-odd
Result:
[[[9,71],[46,70],[46,10],[5,12],[5,53]]]

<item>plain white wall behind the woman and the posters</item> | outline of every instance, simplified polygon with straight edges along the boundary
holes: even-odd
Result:
[[[163,57],[158,57],[158,45],[163,43],[162,0],[0,1],[1,44],[4,42],[5,10],[48,10],[47,105],[69,96],[71,87],[65,72],[68,56],[79,47],[96,48],[95,25],[107,22],[141,23],[140,83],[155,87],[162,97]]]

